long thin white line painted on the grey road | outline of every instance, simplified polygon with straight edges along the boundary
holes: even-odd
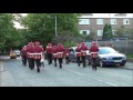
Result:
[[[64,70],[66,70],[66,69],[64,69]],[[96,79],[96,78],[94,78],[94,77],[85,76],[85,74],[82,74],[82,73],[80,73],[80,72],[72,71],[72,70],[66,70],[66,71],[70,71],[70,72],[72,72],[72,73],[75,73],[75,74],[79,74],[79,76],[82,76],[82,77],[89,77],[89,78],[92,78],[92,79],[94,79],[94,80],[96,80],[96,81],[100,81],[100,82],[106,83],[106,84],[112,86],[112,87],[119,87],[117,84],[114,84],[114,83],[108,82],[108,81],[105,81],[105,80],[103,81],[103,79],[102,79],[102,80],[101,80],[101,79]]]

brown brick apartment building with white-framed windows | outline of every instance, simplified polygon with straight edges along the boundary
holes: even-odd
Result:
[[[95,38],[101,40],[104,26],[112,26],[112,32],[120,28],[133,29],[133,13],[83,13],[79,18],[79,30],[81,34],[95,33]]]

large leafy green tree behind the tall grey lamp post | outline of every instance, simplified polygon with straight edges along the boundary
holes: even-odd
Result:
[[[28,28],[27,40],[38,40],[42,44],[55,40],[55,17],[58,36],[78,33],[79,14],[76,13],[29,13],[27,17],[20,17],[19,20]]]

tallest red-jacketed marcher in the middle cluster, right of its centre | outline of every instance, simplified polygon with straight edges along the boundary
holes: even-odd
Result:
[[[58,59],[60,69],[62,68],[63,51],[64,51],[63,46],[61,43],[58,43]]]

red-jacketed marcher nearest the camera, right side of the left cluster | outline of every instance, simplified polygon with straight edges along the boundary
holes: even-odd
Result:
[[[37,63],[37,71],[40,72],[40,67],[41,67],[41,54],[43,52],[43,48],[40,47],[40,42],[35,42],[35,47],[34,47],[34,60]],[[39,54],[40,53],[40,54]]]

